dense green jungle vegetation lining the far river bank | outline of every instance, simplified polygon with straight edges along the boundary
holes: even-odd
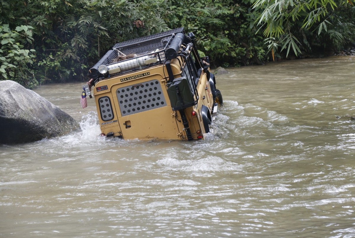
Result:
[[[0,79],[27,88],[87,81],[115,43],[182,26],[214,67],[262,64],[350,49],[355,7],[353,0],[0,0]]]

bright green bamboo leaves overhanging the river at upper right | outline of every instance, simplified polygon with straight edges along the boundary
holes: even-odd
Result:
[[[345,35],[348,40],[354,39],[354,34],[349,34],[354,26],[354,7],[349,7],[350,3],[343,0],[257,0],[253,8],[263,10],[258,25],[264,29],[268,49],[277,51],[278,46],[282,46],[280,51],[286,50],[288,57],[290,50],[297,56],[316,49],[324,51],[344,46]],[[349,13],[349,10],[353,14],[342,19],[344,12]]]

